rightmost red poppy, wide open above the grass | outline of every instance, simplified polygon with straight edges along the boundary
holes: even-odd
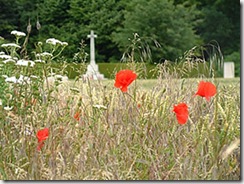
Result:
[[[216,87],[211,82],[201,81],[198,85],[198,91],[195,95],[205,97],[207,101],[210,100],[210,97],[216,94]]]

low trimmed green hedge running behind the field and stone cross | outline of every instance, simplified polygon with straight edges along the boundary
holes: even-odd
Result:
[[[86,67],[88,64],[80,63],[66,63],[64,67],[64,74],[66,74],[69,79],[74,79],[76,77],[81,77],[86,72]],[[56,71],[61,70],[62,64],[53,63],[52,67]],[[154,65],[148,63],[98,63],[99,72],[104,74],[105,78],[114,79],[115,74],[122,69],[133,69],[138,73],[138,78],[154,79],[160,74],[161,77],[166,77],[168,74],[174,75],[177,73],[178,77],[182,78],[196,78],[201,76],[209,76],[208,66],[203,63],[169,63]],[[218,77],[220,74],[215,74]]]

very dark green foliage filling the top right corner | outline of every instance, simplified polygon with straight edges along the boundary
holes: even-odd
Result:
[[[224,55],[240,49],[240,2],[201,1],[203,22],[197,30],[204,42],[216,40]]]

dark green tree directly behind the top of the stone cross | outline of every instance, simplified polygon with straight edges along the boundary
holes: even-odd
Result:
[[[117,46],[112,42],[111,34],[121,24],[123,9],[118,0],[84,1],[73,0],[70,4],[69,15],[72,17],[70,27],[75,27],[76,39],[86,40],[87,35],[94,30],[96,39],[96,55],[98,61],[114,61],[120,57]]]

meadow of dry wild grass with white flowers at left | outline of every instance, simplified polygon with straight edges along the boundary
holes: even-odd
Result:
[[[20,58],[18,42],[0,55],[0,179],[240,180],[239,78],[162,71],[122,92],[114,80],[55,75],[48,63],[66,42],[46,44],[33,61]],[[200,81],[216,86],[210,101],[194,95]],[[181,102],[189,108],[182,125],[173,112]]]

